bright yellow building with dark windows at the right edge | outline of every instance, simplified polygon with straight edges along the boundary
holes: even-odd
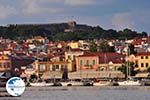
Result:
[[[147,71],[150,67],[150,52],[138,53],[136,55],[136,68],[138,71]]]

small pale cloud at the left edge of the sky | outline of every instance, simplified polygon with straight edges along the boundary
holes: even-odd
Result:
[[[0,4],[0,19],[1,20],[7,19],[8,17],[14,14],[16,14],[16,10],[13,7]]]

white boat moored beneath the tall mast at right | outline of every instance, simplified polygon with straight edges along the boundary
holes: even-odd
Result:
[[[118,82],[118,84],[120,86],[125,86],[125,85],[128,85],[128,86],[139,86],[141,85],[141,83],[139,81],[133,81],[133,80],[126,80],[126,81],[122,81],[122,82]]]

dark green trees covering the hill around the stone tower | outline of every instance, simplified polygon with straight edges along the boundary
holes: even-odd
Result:
[[[23,40],[33,36],[44,36],[53,41],[68,40],[92,40],[92,39],[132,39],[135,37],[145,37],[146,32],[137,33],[130,29],[104,30],[100,26],[92,27],[87,25],[76,25],[74,32],[64,32],[68,29],[67,23],[60,24],[42,24],[42,25],[9,25],[0,27],[0,37],[14,40]]]

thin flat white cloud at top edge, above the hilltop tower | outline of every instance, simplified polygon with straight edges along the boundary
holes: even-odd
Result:
[[[65,4],[71,6],[92,5],[95,3],[96,0],[65,0]]]

